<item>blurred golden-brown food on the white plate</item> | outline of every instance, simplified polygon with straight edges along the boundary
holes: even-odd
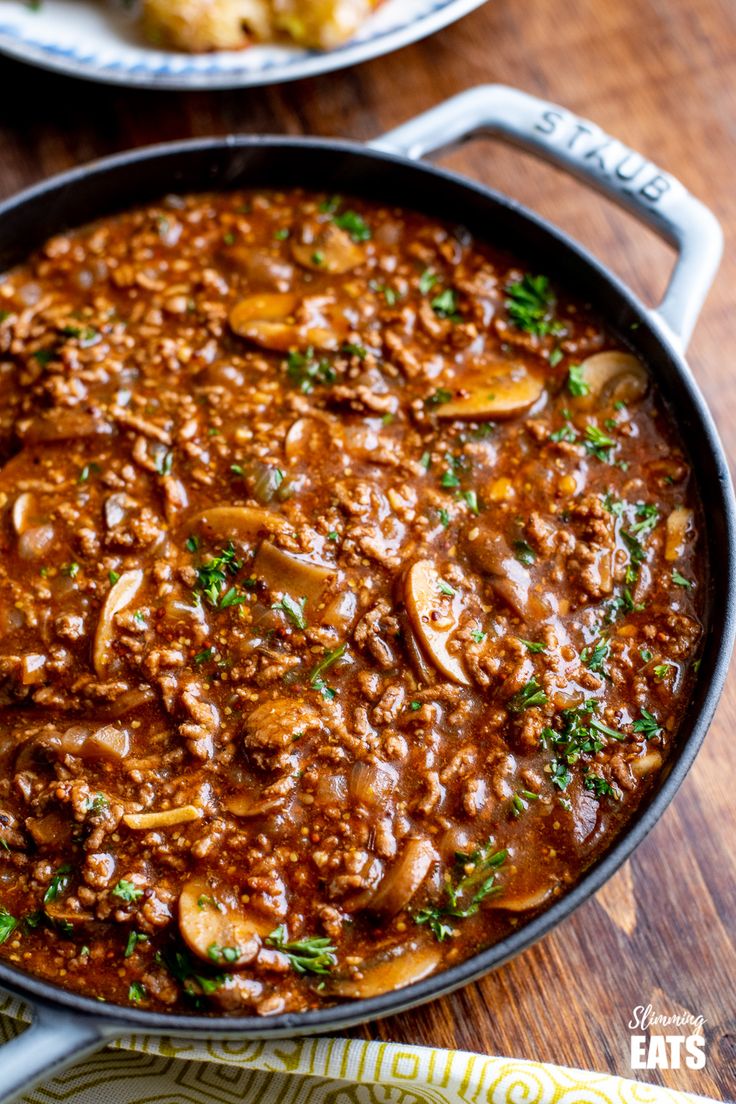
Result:
[[[189,53],[243,50],[255,42],[333,50],[380,0],[142,0],[140,24],[153,45]]]

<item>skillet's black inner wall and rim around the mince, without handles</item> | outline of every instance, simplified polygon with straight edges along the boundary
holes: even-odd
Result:
[[[185,1017],[100,1005],[0,963],[0,984],[21,998],[63,1005],[128,1029],[254,1039],[334,1031],[433,999],[501,965],[587,900],[659,819],[707,731],[730,655],[736,577],[732,489],[723,449],[700,392],[652,315],[626,287],[578,245],[513,201],[434,167],[343,142],[285,138],[195,140],[87,166],[2,204],[0,272],[24,259],[53,234],[168,193],[297,185],[361,195],[447,222],[461,222],[477,237],[509,250],[534,270],[546,273],[589,302],[652,368],[694,460],[708,522],[707,633],[700,676],[666,777],[582,881],[501,943],[407,989],[352,1005],[266,1019]]]

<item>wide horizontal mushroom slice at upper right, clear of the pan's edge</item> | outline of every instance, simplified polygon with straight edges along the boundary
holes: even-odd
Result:
[[[523,414],[542,396],[543,378],[522,363],[474,368],[452,384],[455,399],[440,403],[435,413],[448,421],[500,421]]]

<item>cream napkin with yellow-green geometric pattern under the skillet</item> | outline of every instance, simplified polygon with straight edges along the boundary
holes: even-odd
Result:
[[[0,1001],[0,1037],[25,1010]],[[135,1051],[136,1053],[131,1053]],[[349,1039],[128,1036],[23,1104],[694,1104],[705,1097],[543,1062]]]

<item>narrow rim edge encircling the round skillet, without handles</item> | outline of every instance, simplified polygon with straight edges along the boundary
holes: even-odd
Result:
[[[710,448],[710,459],[717,475],[717,488],[713,490],[713,495],[722,509],[723,528],[726,535],[725,548],[719,551],[718,556],[715,556],[713,554],[714,534],[712,530],[708,530],[707,567],[710,578],[707,585],[711,591],[715,582],[713,569],[716,562],[723,569],[723,574],[717,578],[721,590],[719,598],[723,597],[723,601],[711,606],[711,623],[707,634],[708,638],[712,637],[714,628],[717,628],[718,639],[711,645],[713,654],[712,669],[698,672],[697,682],[693,688],[693,691],[695,691],[701,683],[704,683],[706,677],[708,678],[707,686],[704,686],[700,710],[694,714],[692,720],[690,720],[689,712],[685,712],[679,730],[680,746],[676,750],[675,756],[669,761],[670,769],[661,785],[652,788],[650,794],[644,798],[646,804],[643,807],[634,814],[633,819],[621,829],[614,845],[588,868],[579,881],[548,909],[521,925],[512,934],[487,947],[484,951],[478,952],[462,963],[433,974],[403,989],[395,989],[381,994],[377,997],[365,998],[350,1004],[337,1004],[305,1012],[285,1012],[273,1017],[190,1016],[184,1012],[159,1012],[126,1008],[64,989],[51,981],[25,974],[18,967],[0,959],[0,985],[8,991],[18,996],[21,1000],[30,1000],[31,1004],[35,1004],[39,1007],[55,1010],[66,1009],[85,1019],[93,1017],[97,1021],[102,1021],[99,1023],[100,1034],[103,1032],[106,1034],[116,1034],[127,1029],[136,1028],[154,1034],[167,1033],[210,1039],[241,1036],[257,1041],[295,1034],[308,1036],[344,1030],[374,1018],[397,1015],[408,1008],[437,999],[440,996],[446,996],[503,965],[510,958],[525,951],[548,934],[580,904],[591,898],[632,854],[669,807],[692,766],[710,728],[723,691],[734,637],[736,635],[736,502],[734,500],[734,490],[725,450],[713,416],[687,367],[684,355],[672,340],[670,331],[658,317],[657,311],[646,307],[638,296],[614,272],[608,269],[585,246],[554,223],[543,219],[534,211],[530,211],[510,197],[479,181],[470,180],[461,173],[439,168],[424,160],[414,160],[397,153],[375,149],[370,144],[302,136],[228,135],[218,138],[193,138],[161,142],[127,150],[75,167],[66,172],[55,174],[47,180],[32,184],[0,203],[0,233],[4,220],[11,217],[13,212],[20,206],[34,202],[40,203],[44,198],[67,188],[73,188],[79,181],[90,176],[104,176],[106,172],[118,170],[125,171],[130,166],[141,162],[160,161],[163,168],[168,157],[185,156],[188,153],[202,155],[216,152],[217,155],[222,155],[226,151],[235,152],[238,149],[262,149],[268,151],[277,148],[281,150],[286,149],[287,151],[290,148],[301,150],[308,148],[326,155],[343,153],[372,161],[381,161],[386,163],[388,169],[392,166],[412,169],[420,176],[433,177],[440,184],[445,182],[473,192],[478,199],[495,205],[497,209],[512,212],[516,217],[521,217],[532,232],[545,236],[547,244],[554,244],[555,248],[562,250],[568,259],[572,258],[575,262],[578,268],[583,270],[586,267],[588,270],[593,269],[596,277],[605,286],[606,291],[618,296],[619,300],[625,304],[630,314],[636,318],[641,331],[659,349],[663,357],[669,360],[670,367],[679,378],[685,393],[684,401],[680,400],[681,405],[683,410],[687,408],[687,406],[690,407],[690,412],[694,414],[698,429],[702,432]],[[210,189],[202,188],[199,190],[216,190],[217,185],[223,188],[222,182],[213,180]],[[190,188],[189,190],[196,191],[198,189]],[[163,194],[166,191],[167,189],[163,187],[161,193]],[[354,194],[359,195],[360,189]],[[94,217],[99,216],[93,215],[89,220],[85,221],[93,221]],[[76,225],[84,225],[84,222]],[[479,234],[478,236],[482,235]],[[602,308],[600,312],[606,318]],[[618,330],[619,328],[614,327],[614,329]],[[670,411],[673,413],[671,407]],[[682,421],[683,415],[679,412],[675,417],[675,424],[679,428],[681,428]],[[698,491],[702,491],[702,484],[698,487]],[[703,498],[702,492],[700,493],[700,498]],[[723,586],[724,583],[725,586]],[[723,593],[724,591],[725,594]],[[706,647],[708,643],[710,640],[706,640]],[[690,731],[686,735],[682,736],[683,728],[685,728],[687,722],[690,722]]]

